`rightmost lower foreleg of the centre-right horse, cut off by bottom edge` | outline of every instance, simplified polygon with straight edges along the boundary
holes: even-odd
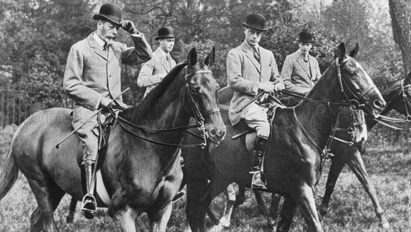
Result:
[[[290,194],[301,208],[301,214],[306,220],[308,231],[323,231],[315,207],[313,189],[309,185],[303,184],[298,192]]]

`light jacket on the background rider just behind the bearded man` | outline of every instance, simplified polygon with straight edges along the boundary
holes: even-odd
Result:
[[[153,52],[153,58],[145,62],[141,66],[140,74],[138,75],[137,85],[147,87],[144,96],[146,96],[155,86],[162,81],[163,77],[171,68],[175,67],[175,60],[172,58],[169,62],[166,59],[166,53],[160,47]]]

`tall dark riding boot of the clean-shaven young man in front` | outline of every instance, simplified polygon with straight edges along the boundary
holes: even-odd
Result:
[[[253,166],[251,166],[250,174],[253,174],[251,188],[254,190],[266,190],[266,180],[264,172],[261,171],[262,158],[264,157],[264,149],[267,139],[257,136],[254,142],[253,150]]]

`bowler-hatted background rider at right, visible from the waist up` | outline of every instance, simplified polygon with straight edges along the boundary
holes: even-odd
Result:
[[[281,70],[281,78],[286,90],[305,96],[319,80],[321,73],[319,62],[308,53],[314,42],[312,34],[308,31],[301,31],[297,41],[299,49],[287,55]]]

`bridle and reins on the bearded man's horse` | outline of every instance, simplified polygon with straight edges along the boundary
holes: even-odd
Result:
[[[135,123],[130,122],[129,120],[126,120],[125,118],[122,118],[121,116],[116,116],[116,114],[113,114],[114,118],[116,118],[116,122],[119,123],[119,125],[127,132],[132,133],[134,136],[136,136],[137,138],[140,138],[141,140],[145,140],[147,142],[151,142],[153,144],[158,144],[158,145],[163,145],[163,146],[175,146],[175,147],[201,147],[201,149],[206,148],[207,146],[207,139],[206,139],[206,128],[204,127],[204,118],[207,118],[208,116],[215,114],[217,112],[220,112],[220,109],[217,105],[216,108],[210,109],[207,112],[203,112],[201,113],[197,103],[195,103],[194,98],[190,92],[190,85],[188,84],[188,79],[194,75],[198,75],[198,74],[211,74],[212,75],[212,71],[211,70],[197,70],[195,73],[187,73],[186,72],[186,87],[184,92],[186,92],[186,97],[188,99],[188,105],[190,107],[190,110],[192,112],[193,117],[196,120],[195,125],[188,125],[188,126],[184,126],[184,127],[174,127],[174,128],[169,128],[169,129],[149,129],[149,128],[145,128],[145,127],[140,127],[138,125],[136,125]],[[155,141],[155,140],[151,140],[149,138],[145,138],[143,136],[138,135],[136,132],[133,131],[133,129],[139,129],[140,131],[148,131],[148,132],[170,132],[170,131],[182,131],[182,130],[187,130],[187,129],[192,129],[192,128],[198,128],[201,133],[202,136],[200,136],[201,138],[203,138],[203,142],[201,144],[170,144],[170,143],[166,143],[166,142],[159,142],[159,141]],[[218,144],[216,144],[218,145]]]

